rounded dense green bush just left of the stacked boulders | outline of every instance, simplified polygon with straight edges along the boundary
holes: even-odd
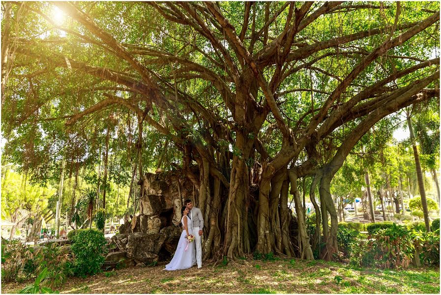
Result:
[[[96,230],[77,231],[72,244],[75,254],[75,274],[94,275],[99,272],[107,253],[104,234]]]

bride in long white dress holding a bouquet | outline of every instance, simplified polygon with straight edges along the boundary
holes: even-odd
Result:
[[[182,207],[182,225],[184,230],[177,243],[177,248],[172,261],[165,266],[165,270],[185,269],[196,265],[196,248],[194,242],[188,242],[187,236],[193,235],[193,222],[188,217],[189,209]]]

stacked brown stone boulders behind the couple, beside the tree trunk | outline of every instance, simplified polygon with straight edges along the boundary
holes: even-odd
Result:
[[[146,174],[139,212],[112,237],[115,247],[107,255],[105,267],[144,266],[170,258],[181,234],[180,208],[192,195],[188,179],[167,173]]]

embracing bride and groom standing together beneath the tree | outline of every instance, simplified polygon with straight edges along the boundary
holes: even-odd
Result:
[[[172,261],[165,266],[165,270],[185,269],[198,263],[202,267],[201,236],[204,233],[204,218],[199,208],[193,207],[191,200],[185,200],[182,214],[182,233]]]

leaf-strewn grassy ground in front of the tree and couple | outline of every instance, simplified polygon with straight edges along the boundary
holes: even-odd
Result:
[[[162,266],[107,271],[86,279],[69,278],[60,293],[388,293],[440,294],[440,269],[353,269],[337,263],[296,259],[243,265],[204,266],[165,271]],[[26,285],[2,284],[2,293],[18,293]]]

